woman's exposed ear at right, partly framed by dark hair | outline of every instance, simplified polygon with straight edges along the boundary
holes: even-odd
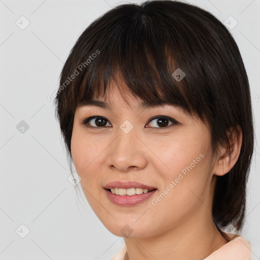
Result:
[[[241,150],[243,137],[240,125],[237,125],[236,129],[230,129],[227,135],[230,142],[230,155],[228,147],[221,147],[220,155],[213,171],[217,176],[223,176],[234,167]]]

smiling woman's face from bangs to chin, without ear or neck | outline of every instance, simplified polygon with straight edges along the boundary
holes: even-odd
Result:
[[[150,237],[212,218],[215,164],[207,126],[172,105],[142,108],[129,96],[130,108],[115,85],[108,98],[110,108],[77,108],[71,140],[81,187],[106,228]],[[90,116],[96,118],[82,124]],[[110,187],[129,188],[120,194],[143,193],[113,194],[106,188],[115,181]],[[144,193],[142,185],[155,190]]]

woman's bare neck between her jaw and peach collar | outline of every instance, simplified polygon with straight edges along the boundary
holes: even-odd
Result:
[[[217,230],[211,214],[208,215],[208,219],[197,218],[203,219],[201,222],[188,219],[178,223],[166,233],[154,237],[125,238],[127,254],[124,260],[206,258],[228,242]]]

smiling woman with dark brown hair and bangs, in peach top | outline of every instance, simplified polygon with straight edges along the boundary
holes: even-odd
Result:
[[[250,90],[228,29],[176,1],[126,4],[79,37],[56,96],[112,259],[250,259],[237,233],[253,152]]]

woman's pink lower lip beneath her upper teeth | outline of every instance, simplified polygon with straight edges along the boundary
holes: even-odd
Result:
[[[132,196],[129,195],[117,195],[109,190],[105,189],[107,196],[110,201],[112,201],[116,205],[120,206],[134,206],[137,205],[141,202],[144,202],[148,200],[153,194],[156,192],[157,189],[147,192],[147,193],[142,193],[142,194],[135,194]]]

